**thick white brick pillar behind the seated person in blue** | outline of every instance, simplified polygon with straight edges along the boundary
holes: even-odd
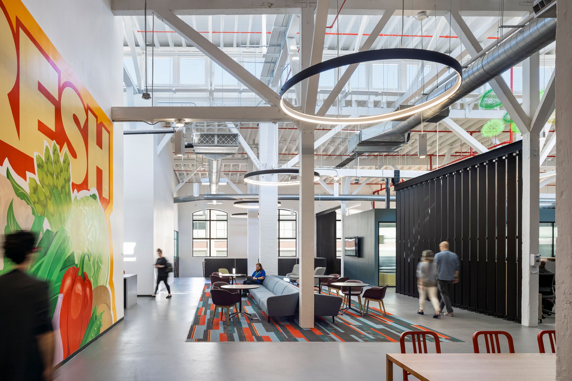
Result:
[[[260,123],[258,129],[260,170],[278,168],[278,129]],[[276,181],[276,175],[262,175],[261,181]],[[266,274],[278,275],[278,187],[259,186],[259,259]]]

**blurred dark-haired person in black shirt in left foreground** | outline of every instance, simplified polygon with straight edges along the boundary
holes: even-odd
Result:
[[[35,235],[19,231],[6,235],[4,255],[14,270],[0,276],[0,377],[3,380],[51,380],[54,332],[48,286],[26,274]]]

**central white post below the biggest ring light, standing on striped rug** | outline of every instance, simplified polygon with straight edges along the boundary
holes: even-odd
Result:
[[[300,327],[314,326],[314,126],[300,130]]]

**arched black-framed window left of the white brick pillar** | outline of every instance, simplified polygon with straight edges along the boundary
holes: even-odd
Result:
[[[193,256],[228,256],[228,214],[207,209],[193,213]]]

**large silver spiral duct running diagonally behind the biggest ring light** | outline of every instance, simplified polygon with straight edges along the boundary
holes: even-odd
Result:
[[[387,122],[365,129],[360,133],[360,141],[383,141],[383,138],[404,135],[419,126],[423,120],[434,117],[459,99],[483,86],[491,79],[498,77],[511,67],[524,61],[556,39],[556,19],[536,18],[510,38],[494,47],[463,71],[463,83],[450,98],[430,109],[414,114],[403,122]],[[435,98],[449,89],[456,79],[451,79],[439,86],[430,94],[420,99],[419,103]]]

